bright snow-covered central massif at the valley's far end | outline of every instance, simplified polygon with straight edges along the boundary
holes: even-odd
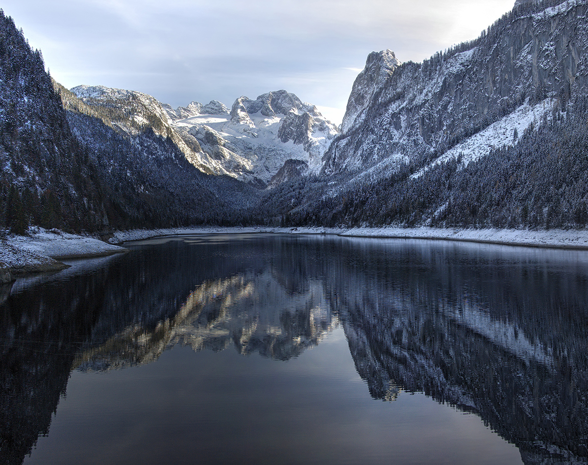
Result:
[[[192,102],[173,111],[172,126],[189,145],[198,142],[208,167],[249,184],[265,186],[290,159],[305,162],[311,172],[322,168],[322,155],[337,128],[314,105],[280,90],[255,100],[239,97],[232,108],[212,101]]]

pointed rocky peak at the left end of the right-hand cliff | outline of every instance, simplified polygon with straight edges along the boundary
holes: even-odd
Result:
[[[394,52],[389,49],[368,55],[365,68],[353,82],[341,132],[346,132],[353,125],[355,119],[370,105],[377,90],[383,87],[386,79],[401,64]]]

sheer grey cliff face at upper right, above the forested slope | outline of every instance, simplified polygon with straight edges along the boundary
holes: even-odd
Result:
[[[475,41],[423,64],[370,54],[323,172],[442,155],[526,102],[586,95],[588,6],[553,3],[519,3]]]

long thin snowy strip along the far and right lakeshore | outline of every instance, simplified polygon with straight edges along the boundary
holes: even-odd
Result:
[[[452,229],[452,228],[272,228],[272,227],[202,227],[161,230],[118,231],[110,240],[113,244],[166,235],[191,234],[337,234],[348,237],[413,238],[432,240],[467,241],[489,244],[522,245],[526,247],[588,249],[588,230],[504,230],[504,229]]]

